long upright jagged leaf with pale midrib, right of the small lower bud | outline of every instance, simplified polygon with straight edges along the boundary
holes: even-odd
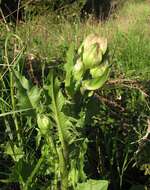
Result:
[[[75,138],[73,136],[75,134],[73,132],[75,130],[75,126],[72,123],[72,118],[65,115],[65,113],[63,112],[63,108],[67,102],[61,92],[60,82],[57,78],[53,78],[53,73],[49,74],[49,78],[51,80],[51,84],[48,88],[48,94],[52,99],[50,104],[50,108],[52,111],[51,118],[53,118],[53,121],[55,121],[58,128],[59,139],[61,139],[64,144],[70,144]]]

